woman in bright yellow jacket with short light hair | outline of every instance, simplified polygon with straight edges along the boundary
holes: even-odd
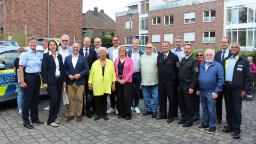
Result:
[[[107,59],[108,50],[106,47],[98,48],[99,59],[94,61],[89,75],[88,89],[93,90],[97,116],[94,121],[98,121],[102,115],[107,121],[107,96],[116,90],[116,73],[114,64]]]

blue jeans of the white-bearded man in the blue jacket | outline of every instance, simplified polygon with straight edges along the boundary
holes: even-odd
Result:
[[[216,100],[212,99],[212,93],[204,93],[200,91],[201,106],[203,109],[203,124],[210,127],[216,127]]]

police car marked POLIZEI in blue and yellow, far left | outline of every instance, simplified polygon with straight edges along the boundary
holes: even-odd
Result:
[[[15,72],[13,62],[18,57],[19,47],[1,47],[0,48],[0,102],[17,99],[17,89],[15,86]],[[27,47],[25,49],[28,49]],[[42,54],[43,50],[38,50]],[[40,94],[47,94],[41,85]]]

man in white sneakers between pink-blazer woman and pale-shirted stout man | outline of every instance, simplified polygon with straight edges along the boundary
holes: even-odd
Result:
[[[128,51],[127,54],[133,61],[133,75],[132,75],[132,91],[131,91],[131,109],[136,111],[137,114],[140,113],[139,101],[140,101],[140,83],[141,83],[141,74],[140,74],[140,56],[143,52],[139,51],[139,39],[132,39],[132,50]],[[133,105],[134,102],[134,105]],[[134,106],[134,107],[133,107]]]

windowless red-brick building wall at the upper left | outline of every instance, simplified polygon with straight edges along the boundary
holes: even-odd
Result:
[[[65,4],[59,0],[0,0],[0,28],[4,37],[9,36],[11,29],[17,28],[22,32],[27,29],[28,37],[60,38],[67,34],[70,44],[74,43],[74,37],[75,42],[82,44],[82,15],[82,0],[70,0]]]

